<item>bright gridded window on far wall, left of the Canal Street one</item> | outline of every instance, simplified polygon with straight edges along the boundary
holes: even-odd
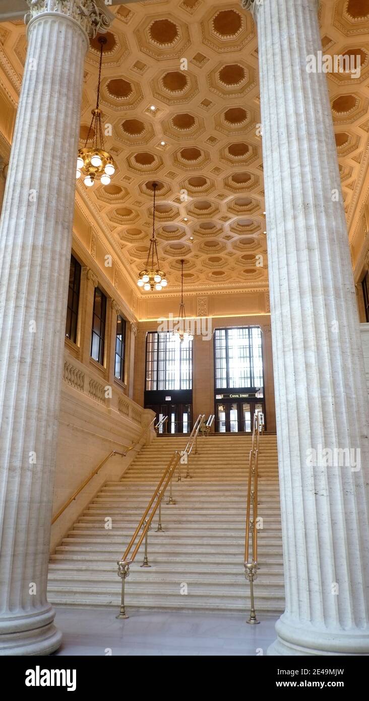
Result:
[[[149,332],[146,338],[146,390],[192,389],[192,341],[180,343],[171,333]]]

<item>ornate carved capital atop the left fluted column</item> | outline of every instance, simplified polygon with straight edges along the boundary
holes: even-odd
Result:
[[[38,15],[59,13],[78,22],[88,36],[107,32],[113,19],[104,0],[26,0],[29,11],[25,15],[26,25]]]

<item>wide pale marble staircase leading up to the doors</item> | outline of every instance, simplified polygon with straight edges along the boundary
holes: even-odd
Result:
[[[121,557],[165,465],[187,437],[157,437],[118,482],[106,482],[51,557],[48,597],[57,604],[120,604],[116,561]],[[199,437],[190,456],[191,479],[174,480],[176,505],[162,505],[148,536],[150,569],[141,568],[144,546],[126,580],[127,606],[246,611],[249,583],[243,566],[246,477],[251,436]],[[260,573],[256,609],[284,608],[277,440],[260,446],[258,535]],[[111,529],[106,529],[106,518]]]

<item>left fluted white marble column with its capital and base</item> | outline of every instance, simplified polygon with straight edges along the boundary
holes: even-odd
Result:
[[[0,221],[0,654],[60,644],[46,598],[83,63],[101,13],[28,0]]]

